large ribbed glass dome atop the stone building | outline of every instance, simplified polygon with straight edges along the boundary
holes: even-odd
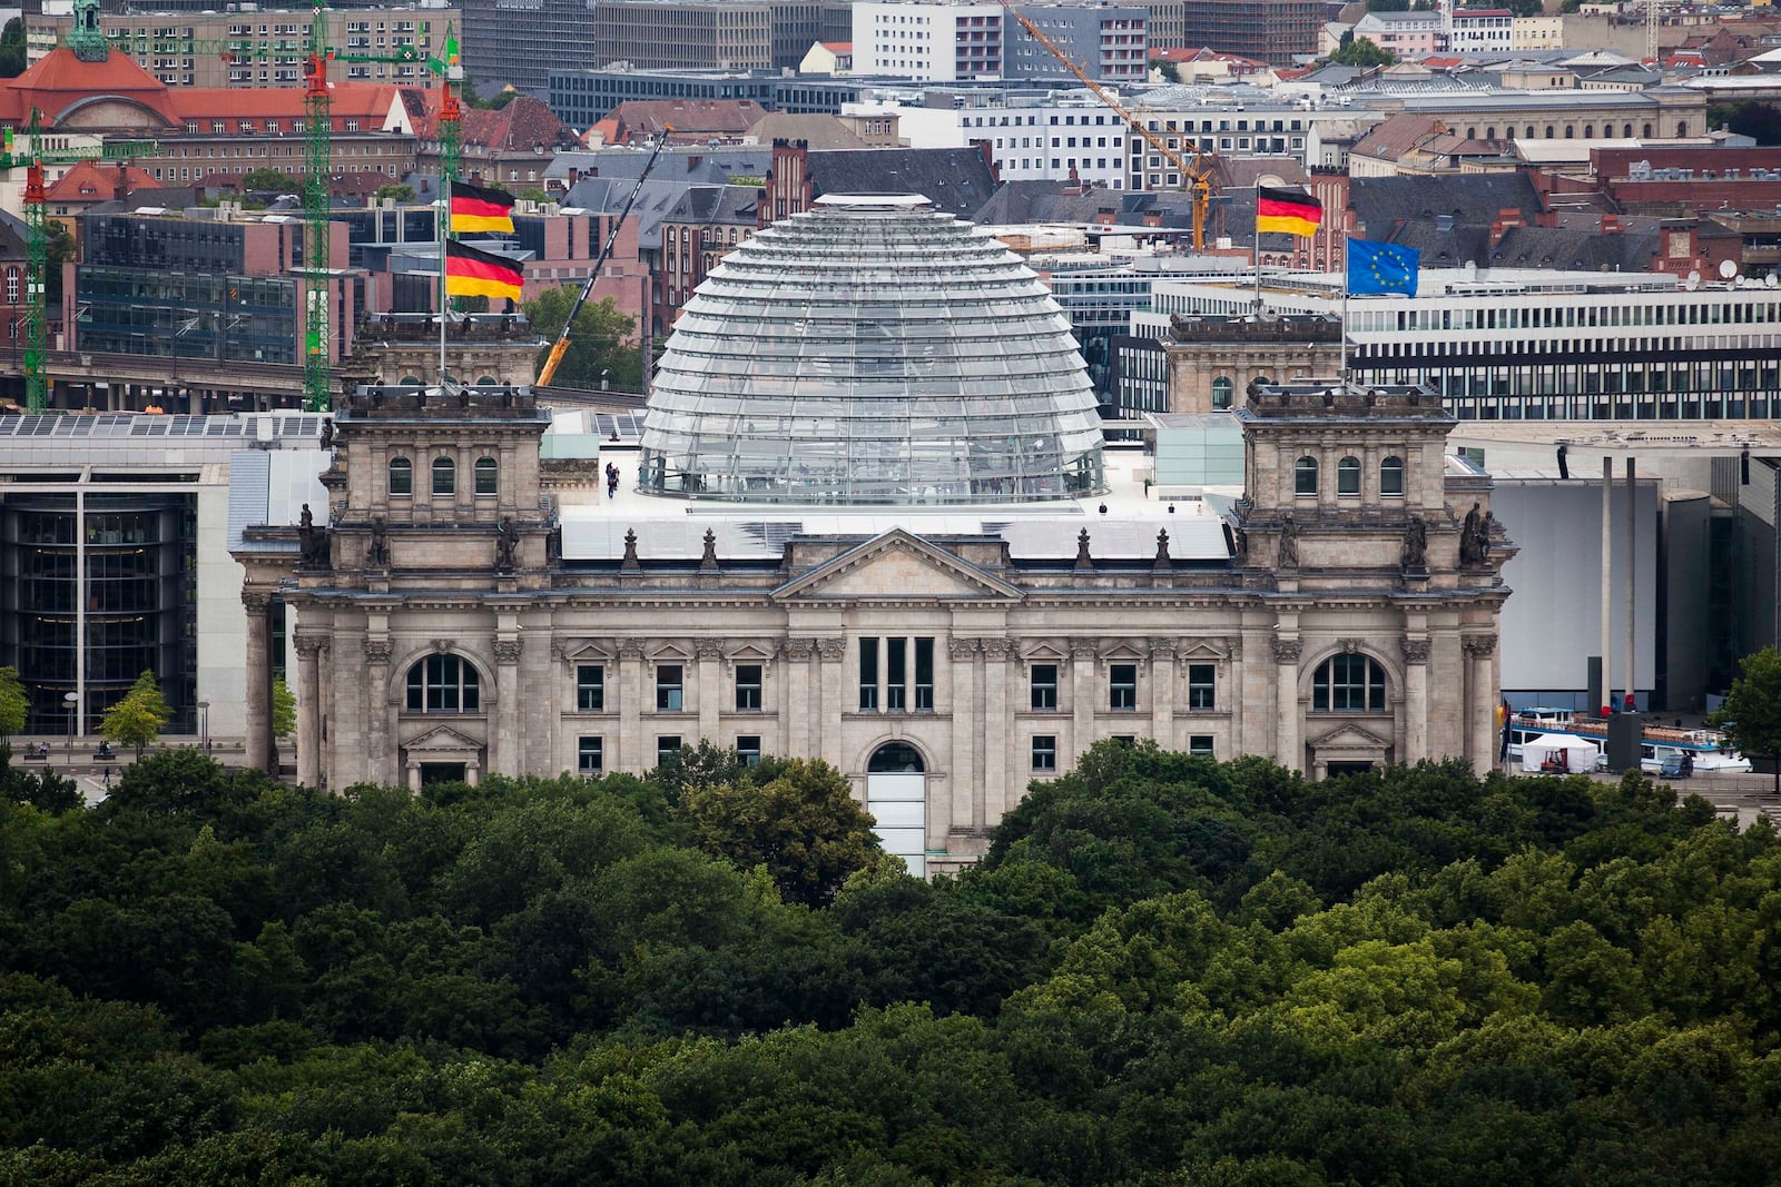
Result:
[[[919,196],[828,196],[687,301],[643,488],[789,504],[981,504],[1102,488],[1069,319],[996,238]]]

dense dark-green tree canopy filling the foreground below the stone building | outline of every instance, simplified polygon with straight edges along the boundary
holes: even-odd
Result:
[[[0,804],[0,1183],[1781,1173],[1765,822],[1102,744],[978,868],[812,908],[720,856],[794,861],[748,819],[785,763],[709,803],[748,778],[329,797],[169,751]]]

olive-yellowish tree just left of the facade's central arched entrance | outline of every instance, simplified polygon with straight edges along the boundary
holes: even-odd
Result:
[[[743,870],[764,865],[787,900],[807,906],[828,906],[880,852],[873,819],[819,758],[794,758],[766,783],[687,785],[680,812],[700,849]]]

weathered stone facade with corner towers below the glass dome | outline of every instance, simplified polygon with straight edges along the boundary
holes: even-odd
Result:
[[[871,806],[874,756],[901,744],[926,779],[926,868],[946,870],[1108,737],[1313,776],[1489,769],[1514,548],[1484,518],[1489,479],[1443,456],[1439,399],[1257,386],[1238,416],[1225,561],[1174,561],[1167,527],[1154,559],[1097,559],[1094,516],[1045,559],[894,527],[794,534],[778,562],[718,555],[711,534],[675,561],[639,562],[634,534],[623,557],[565,561],[529,392],[360,393],[335,415],[331,527],[249,529],[237,553],[249,758],[271,753],[280,593],[297,772],[331,788],[641,772],[709,739],[821,756]]]

